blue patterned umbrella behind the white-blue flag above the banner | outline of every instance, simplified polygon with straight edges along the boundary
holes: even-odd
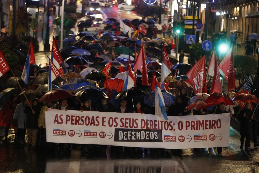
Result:
[[[167,92],[166,90],[162,89],[162,95],[164,98],[164,104],[166,106],[172,105],[175,103],[175,96],[172,93]],[[149,94],[147,94],[144,97],[144,103],[151,106],[151,107],[155,107],[155,92],[151,92]]]

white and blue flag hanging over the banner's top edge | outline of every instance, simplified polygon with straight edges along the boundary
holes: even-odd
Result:
[[[161,89],[155,85],[155,114],[167,120],[166,106]]]

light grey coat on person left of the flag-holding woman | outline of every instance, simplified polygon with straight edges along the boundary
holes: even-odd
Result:
[[[27,122],[27,114],[24,113],[24,105],[20,103],[15,108],[15,114],[13,115],[13,119],[17,119],[18,129],[25,129]]]

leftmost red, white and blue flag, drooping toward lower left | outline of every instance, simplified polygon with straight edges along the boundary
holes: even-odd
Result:
[[[31,40],[27,58],[26,58],[25,65],[23,68],[23,73],[21,74],[21,79],[23,79],[25,84],[28,84],[30,65],[32,65],[32,64],[35,64],[35,57],[34,57],[32,40]]]

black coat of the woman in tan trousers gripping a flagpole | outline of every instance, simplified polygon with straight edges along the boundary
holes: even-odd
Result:
[[[26,106],[24,109],[24,113],[26,113],[27,116],[27,122],[26,122],[26,128],[27,129],[38,129],[38,119],[40,115],[40,106],[32,105],[32,109],[35,111],[35,114],[32,113],[32,110],[30,106]]]

